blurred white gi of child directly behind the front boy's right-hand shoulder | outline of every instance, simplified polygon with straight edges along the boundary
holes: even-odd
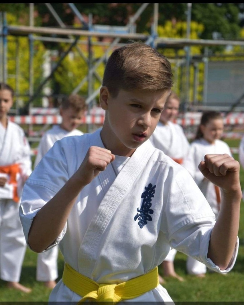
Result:
[[[162,150],[167,156],[182,161],[187,156],[190,148],[183,128],[171,121],[168,121],[167,124],[159,121],[153,134],[150,136],[150,141],[154,147]],[[173,262],[176,253],[175,249],[171,249],[165,260]]]

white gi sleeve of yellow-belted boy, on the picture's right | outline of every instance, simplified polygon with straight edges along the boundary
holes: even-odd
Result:
[[[239,238],[237,237],[228,268],[220,270],[207,257],[210,236],[216,220],[206,198],[183,167],[177,173],[171,173],[169,181],[169,191],[164,196],[161,230],[166,234],[170,246],[202,262],[209,269],[227,273],[235,264]]]

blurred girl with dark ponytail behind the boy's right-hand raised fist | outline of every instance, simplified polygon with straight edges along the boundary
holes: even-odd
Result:
[[[216,111],[204,112],[196,132],[196,137],[191,142],[189,153],[183,162],[183,166],[192,175],[206,197],[216,218],[220,211],[220,189],[203,176],[198,168],[198,164],[204,159],[206,154],[228,154],[232,156],[228,144],[220,139],[223,131],[224,120],[221,113]],[[186,269],[189,274],[194,274],[198,277],[204,277],[207,272],[206,265],[192,257],[188,257]]]

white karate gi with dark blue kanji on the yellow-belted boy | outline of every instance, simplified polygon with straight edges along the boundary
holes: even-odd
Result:
[[[89,147],[104,147],[100,132],[57,141],[37,165],[24,186],[19,210],[26,239],[38,210],[76,172]],[[65,262],[97,283],[118,284],[147,273],[162,263],[171,246],[217,272],[230,271],[239,239],[225,271],[207,258],[215,217],[188,171],[150,141],[121,159],[119,173],[118,164],[111,163],[82,189],[50,247],[59,244]],[[61,279],[49,301],[80,299]],[[133,301],[172,299],[158,285]]]

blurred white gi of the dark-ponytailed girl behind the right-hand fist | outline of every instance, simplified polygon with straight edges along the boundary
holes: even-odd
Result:
[[[224,141],[215,140],[214,144],[210,144],[203,138],[197,139],[191,143],[189,153],[182,164],[192,175],[196,184],[207,199],[207,202],[211,206],[215,217],[217,217],[219,212],[215,187],[213,183],[204,178],[203,174],[198,168],[198,165],[201,160],[204,160],[204,156],[207,154],[224,153],[232,156],[228,144]],[[194,260],[191,257],[187,259],[186,269],[189,274],[203,274],[207,272],[207,267],[204,264],[201,264],[199,261]]]

